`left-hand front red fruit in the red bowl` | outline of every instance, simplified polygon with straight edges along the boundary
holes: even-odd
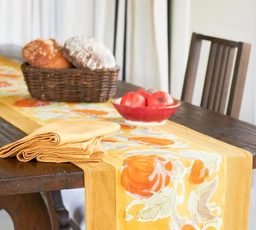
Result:
[[[147,100],[145,99],[144,96],[140,95],[139,93],[129,92],[125,93],[125,95],[122,97],[120,104],[140,107],[146,106]]]

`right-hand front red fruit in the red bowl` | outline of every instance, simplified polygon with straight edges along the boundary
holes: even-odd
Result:
[[[157,91],[148,96],[147,105],[152,107],[166,107],[173,105],[173,98],[169,93],[164,91]]]

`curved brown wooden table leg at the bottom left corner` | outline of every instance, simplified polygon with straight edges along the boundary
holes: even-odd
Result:
[[[40,193],[2,195],[0,210],[6,210],[13,220],[15,230],[56,230]]]

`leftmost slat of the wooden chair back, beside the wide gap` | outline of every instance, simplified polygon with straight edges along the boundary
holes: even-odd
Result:
[[[214,63],[216,58],[216,52],[218,49],[217,43],[211,44],[210,54],[209,54],[209,61],[207,64],[207,70],[205,75],[205,82],[204,82],[204,90],[202,96],[201,106],[207,108],[208,98],[209,98],[209,91],[211,89],[211,81],[212,81],[212,73],[214,70]]]

